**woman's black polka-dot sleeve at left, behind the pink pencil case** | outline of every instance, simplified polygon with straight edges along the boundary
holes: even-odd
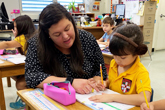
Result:
[[[28,41],[28,50],[25,60],[25,80],[27,86],[30,88],[36,88],[44,79],[50,74],[46,74],[43,71],[43,67],[39,62],[37,55],[37,38],[32,38]]]

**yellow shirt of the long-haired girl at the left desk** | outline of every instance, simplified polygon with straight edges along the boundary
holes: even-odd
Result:
[[[25,48],[26,48],[26,46],[25,46],[25,43],[26,43],[25,36],[22,34],[22,35],[16,37],[14,40],[21,44],[21,46],[22,46],[21,48],[22,48],[23,52],[25,52]]]

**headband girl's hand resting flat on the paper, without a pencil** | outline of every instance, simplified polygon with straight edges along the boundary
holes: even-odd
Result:
[[[94,102],[113,102],[115,95],[116,94],[102,93],[102,95],[95,95],[90,97],[89,100]]]

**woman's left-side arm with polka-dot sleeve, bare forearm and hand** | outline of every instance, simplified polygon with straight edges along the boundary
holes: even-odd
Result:
[[[66,77],[56,77],[44,72],[38,59],[36,39],[37,38],[32,38],[29,40],[26,55],[25,79],[27,86],[30,88],[43,88],[44,83],[50,83],[52,81],[65,81]],[[92,87],[89,86],[87,79],[74,79],[72,86],[76,92],[81,94],[90,93],[92,90]]]

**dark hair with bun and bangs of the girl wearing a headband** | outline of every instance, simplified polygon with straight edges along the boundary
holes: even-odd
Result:
[[[119,33],[131,39],[138,47],[133,46],[128,41],[114,36],[114,33]],[[147,46],[143,44],[143,33],[136,24],[125,22],[116,27],[112,33],[113,38],[110,41],[109,49],[113,55],[143,55],[147,52]]]

